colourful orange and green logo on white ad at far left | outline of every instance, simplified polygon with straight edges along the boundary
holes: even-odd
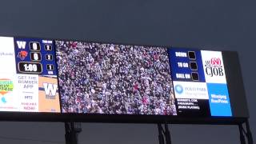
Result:
[[[0,79],[0,94],[4,96],[5,94],[14,90],[14,82],[7,78]],[[6,103],[6,98],[2,97],[1,101]]]

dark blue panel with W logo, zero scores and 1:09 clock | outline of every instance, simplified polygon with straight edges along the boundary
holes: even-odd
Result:
[[[18,74],[40,74],[57,77],[52,40],[14,38]]]

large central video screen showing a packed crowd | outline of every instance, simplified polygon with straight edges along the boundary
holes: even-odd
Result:
[[[63,113],[177,115],[166,48],[55,45]]]

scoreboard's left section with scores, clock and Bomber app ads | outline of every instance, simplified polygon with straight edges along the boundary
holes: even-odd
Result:
[[[60,112],[53,41],[0,37],[0,53],[0,111]]]

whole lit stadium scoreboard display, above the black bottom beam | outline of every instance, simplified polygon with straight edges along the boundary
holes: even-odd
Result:
[[[238,110],[246,99],[234,92],[240,85],[230,72],[239,67],[228,63],[232,58],[190,48],[0,37],[0,111],[248,117]]]

